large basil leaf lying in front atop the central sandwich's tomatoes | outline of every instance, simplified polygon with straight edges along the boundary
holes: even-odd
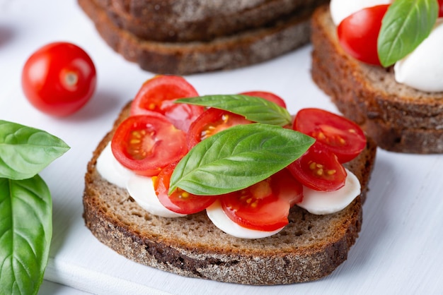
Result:
[[[171,176],[177,187],[195,195],[238,191],[275,174],[306,152],[315,140],[267,124],[237,125],[195,145]]]

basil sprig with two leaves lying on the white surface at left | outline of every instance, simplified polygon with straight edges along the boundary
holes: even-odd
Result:
[[[0,294],[37,294],[52,239],[52,198],[38,173],[69,147],[0,120]]]

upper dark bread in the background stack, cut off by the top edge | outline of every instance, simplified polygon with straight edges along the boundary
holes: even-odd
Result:
[[[243,5],[217,0],[136,1],[127,8],[121,2],[97,0],[96,3],[114,25],[140,39],[189,42],[210,41],[245,30],[272,27],[292,16],[311,14],[327,0],[243,1]],[[137,17],[135,7],[143,13],[141,16]]]

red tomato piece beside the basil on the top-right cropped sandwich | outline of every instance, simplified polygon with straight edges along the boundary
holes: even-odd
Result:
[[[384,4],[364,8],[338,25],[338,40],[348,54],[367,64],[380,65],[377,38],[388,7]]]

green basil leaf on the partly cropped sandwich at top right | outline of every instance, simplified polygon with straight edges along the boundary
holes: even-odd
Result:
[[[437,0],[393,1],[381,22],[377,43],[382,66],[403,59],[430,35],[438,8]]]

